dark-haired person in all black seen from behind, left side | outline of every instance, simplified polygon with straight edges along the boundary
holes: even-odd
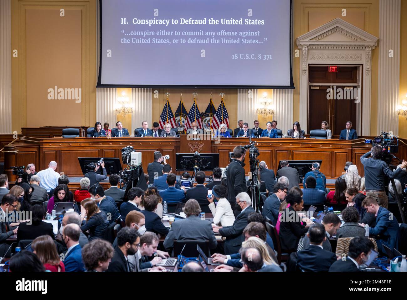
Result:
[[[43,222],[45,217],[45,208],[41,204],[33,206],[33,218],[30,222],[22,222],[18,226],[17,241],[33,240],[38,236],[49,235],[55,239],[53,225]]]

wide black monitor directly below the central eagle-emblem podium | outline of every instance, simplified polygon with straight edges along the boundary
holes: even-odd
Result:
[[[201,171],[212,171],[219,166],[219,153],[200,153]],[[175,168],[177,171],[193,171],[195,166],[194,153],[175,153]]]

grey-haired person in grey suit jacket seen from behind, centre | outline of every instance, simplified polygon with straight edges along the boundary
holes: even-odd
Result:
[[[183,211],[186,218],[171,225],[171,229],[164,240],[164,248],[167,250],[173,248],[174,240],[208,240],[209,248],[215,249],[218,242],[210,222],[201,220],[199,217],[201,207],[198,201],[195,199],[186,201]]]

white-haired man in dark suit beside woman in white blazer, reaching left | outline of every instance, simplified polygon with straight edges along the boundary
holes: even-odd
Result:
[[[251,212],[254,212],[252,207],[252,200],[249,194],[241,192],[236,196],[236,204],[241,208],[242,212],[236,217],[232,226],[219,227],[214,226],[213,231],[219,232],[222,236],[226,237],[225,240],[225,254],[237,253],[245,240],[243,236],[243,229],[247,225],[247,218]]]

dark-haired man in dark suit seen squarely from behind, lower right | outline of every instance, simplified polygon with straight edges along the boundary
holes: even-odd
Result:
[[[307,249],[298,251],[297,266],[306,272],[326,272],[336,261],[333,252],[322,249],[322,243],[326,240],[325,227],[322,224],[313,224],[307,233],[310,245]]]

